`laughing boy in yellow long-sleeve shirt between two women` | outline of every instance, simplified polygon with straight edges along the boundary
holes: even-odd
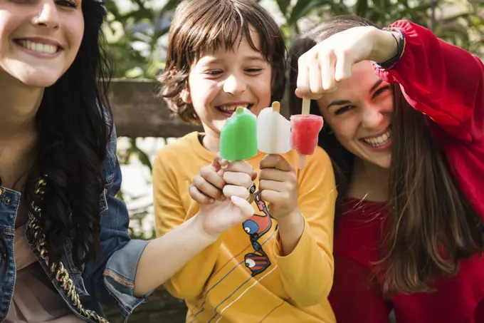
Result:
[[[251,179],[235,180],[241,173],[258,173],[254,215],[223,232],[165,284],[186,299],[186,322],[335,322],[327,295],[337,192],[326,153],[317,148],[303,170],[295,170],[295,151],[258,153],[246,160],[250,170],[223,176],[216,163],[220,130],[236,107],[258,115],[283,96],[285,45],[273,18],[251,0],[181,2],[160,81],[169,108],[201,123],[204,133],[190,133],[157,155],[157,235],[199,210],[189,193],[192,180],[192,195],[206,202],[231,196],[228,186],[236,188],[228,182],[245,189]]]

